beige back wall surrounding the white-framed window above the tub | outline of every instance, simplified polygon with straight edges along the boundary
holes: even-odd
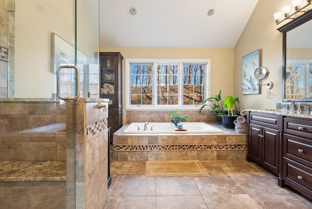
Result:
[[[100,52],[121,52],[124,59],[210,59],[211,93],[217,94],[221,89],[222,96],[234,94],[234,48],[100,47]],[[123,75],[125,75],[124,63],[123,60]],[[124,84],[125,77],[122,79]],[[124,85],[122,92],[125,92]],[[125,106],[125,94],[122,97]],[[125,123],[126,111],[123,109],[123,124]]]

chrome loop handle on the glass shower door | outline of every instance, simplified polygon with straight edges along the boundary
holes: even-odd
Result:
[[[75,97],[62,97],[60,95],[60,69],[61,68],[75,68],[76,70],[76,79],[75,79]],[[57,93],[58,93],[58,97],[61,100],[77,100],[80,96],[80,78],[79,78],[79,68],[76,65],[60,65],[58,70],[57,70]]]

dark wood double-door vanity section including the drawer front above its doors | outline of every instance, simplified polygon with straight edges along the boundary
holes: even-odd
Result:
[[[248,112],[247,161],[254,161],[280,175],[281,115]]]

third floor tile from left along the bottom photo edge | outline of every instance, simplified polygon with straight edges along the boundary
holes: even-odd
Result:
[[[209,209],[261,209],[248,194],[203,195]]]

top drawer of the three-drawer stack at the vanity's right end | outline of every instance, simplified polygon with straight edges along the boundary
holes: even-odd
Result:
[[[284,118],[284,133],[312,138],[312,120]]]

